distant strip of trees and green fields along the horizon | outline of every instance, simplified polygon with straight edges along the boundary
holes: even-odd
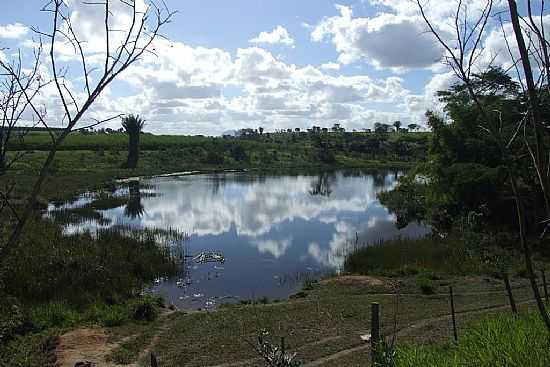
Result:
[[[238,137],[206,137],[143,134],[142,151],[160,151],[173,157],[202,157],[202,161],[246,163],[252,158],[268,163],[291,154],[304,162],[333,163],[336,157],[362,160],[417,161],[427,153],[430,133],[420,132],[278,132],[247,134]],[[59,150],[123,151],[127,149],[125,133],[74,133]],[[12,142],[14,150],[48,150],[49,136],[31,132]]]

